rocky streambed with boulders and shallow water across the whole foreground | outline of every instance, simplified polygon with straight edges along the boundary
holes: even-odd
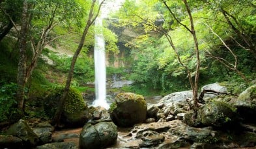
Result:
[[[212,86],[226,91],[205,87]],[[19,120],[0,135],[0,148],[256,148],[255,97],[255,85],[238,97],[206,95],[195,112],[188,106],[192,91],[154,104],[121,93],[108,111],[89,108],[83,128],[56,131],[49,122]]]

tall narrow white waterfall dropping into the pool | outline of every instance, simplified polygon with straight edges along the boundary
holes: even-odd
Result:
[[[95,68],[95,95],[92,106],[102,106],[109,109],[106,100],[106,58],[105,40],[102,34],[102,16],[95,20],[94,68]]]

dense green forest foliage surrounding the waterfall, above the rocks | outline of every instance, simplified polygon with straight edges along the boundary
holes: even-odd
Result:
[[[240,93],[255,79],[256,74],[256,1],[186,2],[192,12],[198,41],[201,64],[199,87],[224,82],[232,87],[233,93]],[[48,89],[64,86],[72,56],[86,24],[85,19],[89,17],[88,4],[92,2],[40,0],[27,3],[29,7],[25,20],[29,23],[27,36],[23,37],[21,31],[24,30],[20,29],[24,20],[23,1],[0,1],[0,122],[14,120],[19,113],[16,110],[16,93],[20,87],[17,85],[20,81],[17,74],[22,38],[25,38],[26,45],[23,61],[27,71],[23,89],[25,107],[40,107]],[[184,4],[182,1],[126,0],[122,8],[111,15],[118,20],[110,21],[112,27],[129,28],[139,34],[133,40],[122,43],[130,51],[124,58],[129,65],[107,69],[109,78],[119,74],[135,81],[133,86],[123,87],[122,91],[151,96],[191,89],[188,71],[195,79],[198,59],[193,36],[186,29],[190,29],[192,24]],[[108,25],[109,22],[104,27],[106,47],[114,55],[117,54],[118,37],[107,29]],[[92,25],[76,61],[71,84],[83,92],[93,90],[86,83],[94,80],[94,65],[90,56],[94,30],[97,29]],[[46,45],[61,52],[47,49]],[[177,52],[173,51],[173,47]],[[71,53],[71,56],[63,54],[63,51]],[[48,64],[44,56],[53,63]],[[26,114],[36,116],[29,111]]]

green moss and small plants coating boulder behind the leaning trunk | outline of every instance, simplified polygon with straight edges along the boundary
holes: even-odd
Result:
[[[44,111],[46,111],[46,115],[48,115],[48,117],[53,117],[62,95],[63,87],[55,87],[53,89],[50,89],[49,94],[44,99]],[[64,103],[63,112],[75,113],[77,111],[82,111],[86,108],[87,106],[83,101],[83,97],[81,97],[79,91],[74,88],[70,88],[70,91],[68,92],[68,97],[66,98],[66,102]]]

